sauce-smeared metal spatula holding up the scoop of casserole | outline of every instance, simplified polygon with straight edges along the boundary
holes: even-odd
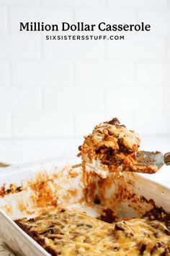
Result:
[[[158,151],[140,151],[139,153],[137,153],[137,166],[139,167],[139,169],[142,166],[148,166],[151,167],[151,169],[153,170],[151,173],[155,173],[162,166],[164,166],[164,164],[166,164],[166,166],[170,166],[170,152],[164,155]]]

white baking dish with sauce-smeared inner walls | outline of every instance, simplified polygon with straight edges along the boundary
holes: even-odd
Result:
[[[92,174],[85,184],[81,168],[71,169],[74,163],[73,159],[67,163],[54,159],[1,171],[1,236],[17,255],[49,255],[12,219],[53,210],[56,202],[63,208],[84,210],[94,217],[105,208],[114,210],[121,218],[142,216],[153,207],[153,201],[170,211],[170,189],[130,173],[120,177],[110,174],[105,180]]]

